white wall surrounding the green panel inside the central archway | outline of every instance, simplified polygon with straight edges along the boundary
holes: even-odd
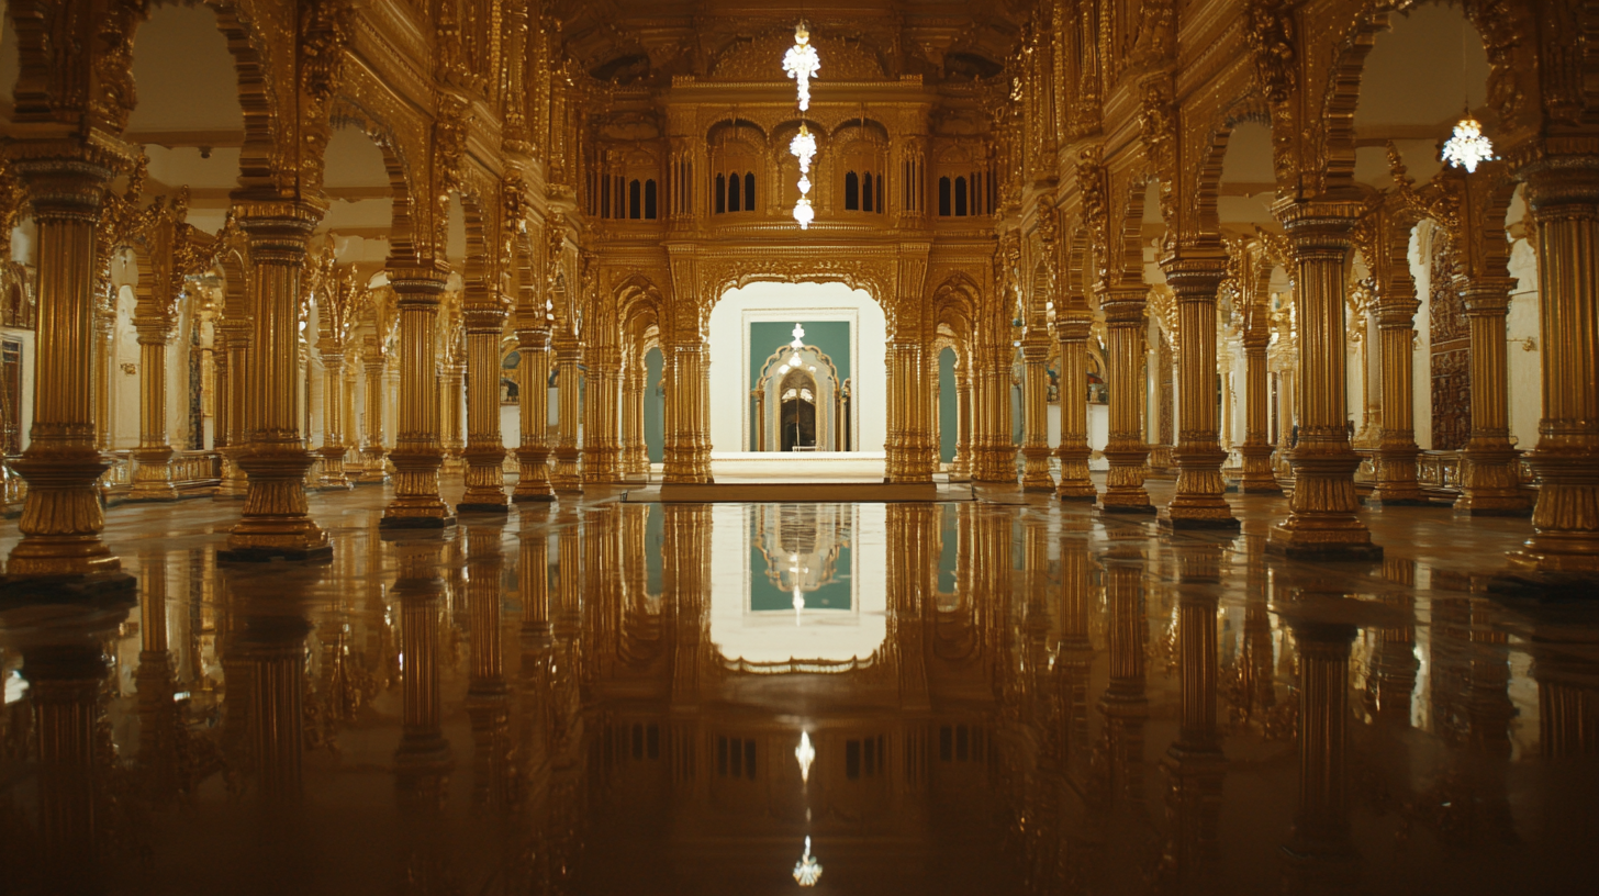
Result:
[[[843,283],[752,283],[729,290],[710,312],[710,446],[744,451],[750,408],[750,323],[847,320],[857,451],[887,440],[887,320],[865,290]]]

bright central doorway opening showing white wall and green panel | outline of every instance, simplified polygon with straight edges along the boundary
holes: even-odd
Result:
[[[881,478],[887,320],[844,283],[752,283],[712,309],[713,475]]]

